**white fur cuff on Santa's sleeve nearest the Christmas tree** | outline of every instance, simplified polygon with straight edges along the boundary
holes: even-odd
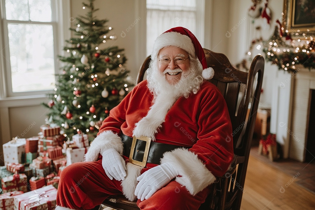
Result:
[[[120,137],[112,131],[100,133],[91,143],[88,152],[84,155],[85,161],[96,161],[98,155],[103,151],[113,148],[119,154],[123,154],[123,143]]]

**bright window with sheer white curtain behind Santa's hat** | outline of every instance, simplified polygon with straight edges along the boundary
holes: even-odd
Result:
[[[170,28],[182,26],[203,46],[204,0],[146,0],[146,53],[152,53],[156,37]]]

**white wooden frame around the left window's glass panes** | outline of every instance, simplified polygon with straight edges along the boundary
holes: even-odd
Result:
[[[52,5],[52,21],[51,22],[37,22],[33,21],[32,24],[40,25],[51,25],[53,27],[53,37],[54,37],[54,74],[60,73],[60,64],[57,59],[57,55],[64,55],[63,46],[64,41],[71,37],[71,32],[68,30],[70,28],[70,0],[51,0]],[[25,92],[13,92],[12,87],[12,76],[11,76],[11,64],[6,58],[10,57],[9,47],[9,35],[8,35],[8,24],[9,23],[28,23],[28,21],[20,20],[6,20],[5,17],[5,2],[0,0],[0,28],[2,29],[0,33],[0,75],[2,79],[0,80],[0,100],[3,99],[21,99],[21,98],[38,98],[44,97],[47,93],[53,91],[51,90],[37,90],[37,91],[25,91]],[[55,81],[56,81],[55,76]]]

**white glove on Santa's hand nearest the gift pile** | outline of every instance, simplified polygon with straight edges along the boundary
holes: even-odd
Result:
[[[102,166],[109,179],[124,180],[126,176],[126,163],[115,149],[107,149],[102,153]]]

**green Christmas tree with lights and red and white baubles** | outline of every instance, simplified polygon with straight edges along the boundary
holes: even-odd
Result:
[[[57,124],[70,137],[78,131],[95,137],[100,123],[128,93],[128,71],[123,67],[124,49],[111,46],[108,20],[97,20],[93,2],[76,20],[75,37],[66,40],[68,56],[58,56],[62,73],[57,75],[54,93],[49,94],[49,123]],[[110,43],[110,44],[108,44]],[[107,45],[107,47],[106,47]]]

